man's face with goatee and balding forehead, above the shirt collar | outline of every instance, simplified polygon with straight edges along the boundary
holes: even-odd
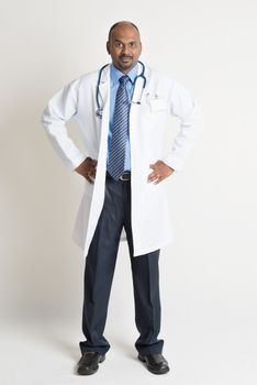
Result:
[[[127,74],[141,55],[142,44],[138,32],[130,24],[118,25],[111,33],[107,50],[114,67]]]

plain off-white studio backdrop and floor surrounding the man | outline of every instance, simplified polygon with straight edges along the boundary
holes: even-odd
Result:
[[[90,381],[256,384],[256,13],[254,0],[0,2],[2,385],[85,381],[71,373],[85,262],[70,238],[83,180],[40,119],[60,87],[110,61],[108,31],[124,19],[141,30],[142,59],[192,91],[204,132],[169,185],[176,241],[160,254],[160,337],[171,372],[156,377],[132,360],[122,244],[105,328],[112,349]]]

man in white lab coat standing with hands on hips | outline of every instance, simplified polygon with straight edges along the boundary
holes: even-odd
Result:
[[[85,296],[78,374],[93,374],[110,344],[103,337],[119,243],[127,240],[133,274],[138,359],[154,374],[169,371],[163,355],[158,261],[172,240],[164,180],[181,169],[200,130],[200,112],[175,79],[145,67],[136,25],[115,23],[107,43],[112,64],[86,74],[48,102],[42,124],[70,170],[85,178],[74,239],[83,249]],[[164,153],[168,116],[180,120]],[[67,134],[76,119],[87,156]]]

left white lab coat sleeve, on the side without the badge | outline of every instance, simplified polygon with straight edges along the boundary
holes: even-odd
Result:
[[[68,136],[65,125],[77,113],[78,86],[79,79],[72,80],[54,95],[48,101],[41,119],[53,147],[70,172],[86,158]]]

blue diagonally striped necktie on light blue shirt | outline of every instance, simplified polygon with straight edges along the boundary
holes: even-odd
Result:
[[[126,82],[130,80],[130,77],[125,75],[119,80],[120,86],[116,91],[108,166],[109,174],[111,174],[115,180],[118,180],[124,172],[130,113],[130,102],[126,90]]]

